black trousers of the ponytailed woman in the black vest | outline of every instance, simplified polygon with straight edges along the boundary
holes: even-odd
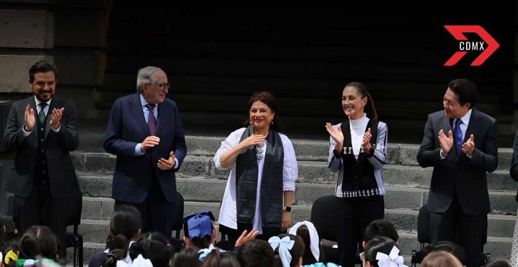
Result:
[[[339,263],[354,266],[356,251],[363,251],[363,235],[367,225],[383,219],[385,202],[383,196],[370,198],[340,198],[338,201],[339,227],[337,231]]]

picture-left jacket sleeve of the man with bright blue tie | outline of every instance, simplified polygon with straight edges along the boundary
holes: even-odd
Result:
[[[424,127],[423,141],[421,142],[418,152],[419,166],[423,168],[435,166],[441,161],[441,149],[440,147],[435,148],[435,136],[438,135],[438,132],[434,132],[431,120],[431,114],[429,114],[426,120],[426,126]]]

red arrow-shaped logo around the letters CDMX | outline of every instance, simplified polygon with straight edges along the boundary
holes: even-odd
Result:
[[[471,62],[471,66],[480,66],[484,63],[488,57],[491,56],[495,52],[496,49],[500,47],[500,44],[496,42],[491,35],[489,35],[485,29],[483,29],[479,25],[444,25],[444,27],[450,32],[455,39],[459,41],[466,41],[468,38],[464,36],[463,33],[476,33],[487,43],[487,48],[482,52],[473,62]],[[455,65],[461,58],[468,53],[467,51],[457,51],[453,54],[450,59],[444,63],[444,66],[453,66]]]

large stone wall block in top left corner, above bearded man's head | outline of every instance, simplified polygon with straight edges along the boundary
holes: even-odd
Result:
[[[54,12],[0,9],[0,23],[0,47],[54,47]]]

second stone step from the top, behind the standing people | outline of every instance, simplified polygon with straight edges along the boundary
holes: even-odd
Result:
[[[85,174],[113,174],[115,160],[106,153],[73,154],[76,171]],[[337,173],[333,173],[323,161],[298,161],[299,183],[334,184]],[[211,157],[186,156],[177,177],[202,177],[206,179],[227,179],[230,170],[218,170]],[[390,186],[428,188],[433,167],[385,165],[382,169],[383,181]],[[496,170],[487,174],[489,190],[517,190],[508,170]]]

